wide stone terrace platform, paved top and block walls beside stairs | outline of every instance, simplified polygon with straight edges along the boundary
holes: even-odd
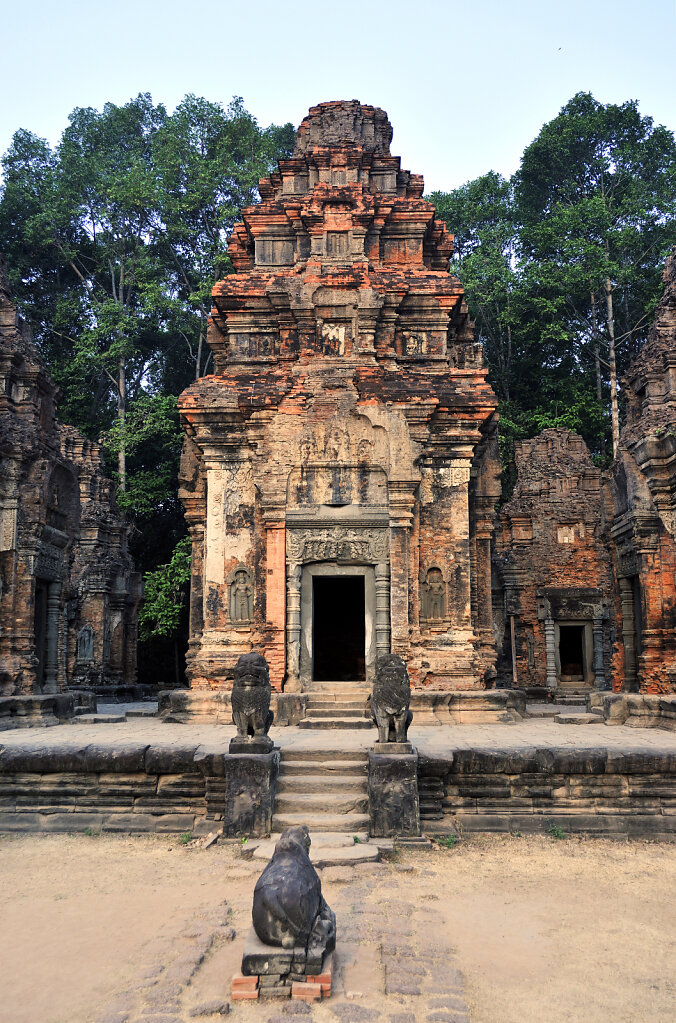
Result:
[[[0,831],[228,832],[234,726],[153,718],[0,732]],[[375,730],[273,729],[281,754],[324,760],[369,750]],[[548,719],[425,727],[418,751],[423,831],[676,835],[676,732]],[[274,757],[274,755],[273,755]],[[255,771],[261,757],[246,757]],[[276,767],[268,800],[274,800]],[[239,782],[237,784],[240,784]],[[251,832],[261,833],[254,818]],[[349,830],[349,829],[348,829]]]

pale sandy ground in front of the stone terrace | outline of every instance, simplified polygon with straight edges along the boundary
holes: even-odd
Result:
[[[0,1021],[172,1023],[229,1000],[260,871],[235,844],[0,839]],[[450,1023],[463,999],[471,1023],[676,1019],[674,845],[470,837],[322,884],[335,993],[305,1019]],[[419,994],[390,991],[393,963],[413,981],[424,966]],[[240,1003],[228,1019],[292,1023],[295,1006]]]

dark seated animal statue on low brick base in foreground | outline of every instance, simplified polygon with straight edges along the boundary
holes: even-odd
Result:
[[[310,862],[310,833],[287,828],[254,889],[254,930],[266,945],[335,947],[335,914],[321,893]]]

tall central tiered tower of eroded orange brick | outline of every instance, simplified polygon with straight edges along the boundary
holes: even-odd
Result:
[[[390,651],[415,685],[494,674],[496,400],[452,238],[391,138],[384,110],[313,107],[230,239],[215,372],[180,400],[192,686],[227,684],[253,647],[275,687],[311,683],[331,579],[363,587],[366,681]],[[342,656],[352,599],[336,602]]]

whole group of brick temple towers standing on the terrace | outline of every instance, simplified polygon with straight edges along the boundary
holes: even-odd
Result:
[[[497,402],[452,236],[391,139],[377,107],[312,107],[233,230],[215,371],[180,399],[190,688],[163,695],[163,716],[230,723],[253,652],[276,725],[314,727],[340,696],[369,727],[388,657],[418,724],[513,719],[517,691],[672,694],[676,256],[612,470],[545,431],[516,446],[496,514]],[[140,580],[98,449],[57,421],[4,269],[0,375],[0,716],[54,720],[74,698],[133,692]]]

